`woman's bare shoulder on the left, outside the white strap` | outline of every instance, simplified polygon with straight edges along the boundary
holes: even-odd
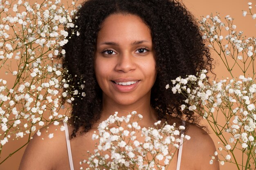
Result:
[[[60,152],[65,145],[65,131],[60,128],[63,125],[49,124],[40,129],[40,136],[34,134],[30,140],[20,162],[19,170],[52,170]],[[64,154],[65,155],[65,154]]]

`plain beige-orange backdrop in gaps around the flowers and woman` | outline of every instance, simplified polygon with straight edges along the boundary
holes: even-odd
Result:
[[[40,1],[38,1],[39,3]],[[64,1],[63,1],[64,2]],[[80,1],[81,2],[81,1]],[[244,35],[247,35],[247,37],[255,36],[256,31],[256,20],[253,20],[251,16],[243,17],[242,10],[248,11],[248,5],[247,2],[252,2],[252,11],[254,13],[255,10],[255,4],[256,0],[251,1],[245,1],[245,0],[183,0],[183,3],[186,5],[186,7],[191,11],[195,17],[200,18],[200,16],[208,15],[211,12],[220,13],[220,16],[222,19],[226,15],[230,15],[231,17],[235,18],[234,24],[237,26],[236,31],[244,31]],[[70,0],[71,3],[71,0]],[[217,74],[217,78],[222,78],[222,76],[227,77],[229,73],[226,71],[226,68],[223,67],[223,64],[218,59],[218,56],[214,54],[214,52],[211,53],[214,57],[216,63],[216,69],[214,72]],[[236,74],[236,76],[240,75],[239,73]],[[5,78],[4,72],[0,73],[0,78]],[[11,80],[10,80],[11,81]],[[7,79],[7,82],[8,79]],[[215,137],[214,134],[211,134],[211,137],[213,138],[216,147],[219,147],[217,142],[218,139]],[[13,139],[9,140],[7,144],[4,145],[2,150],[2,155],[0,158],[0,162],[5,158],[9,153],[15,151],[17,148],[22,146],[22,144],[25,144],[25,139]],[[13,156],[11,156],[7,161],[2,163],[0,165],[0,170],[18,170],[18,166],[22,157],[22,154],[25,150],[25,147],[19,150],[17,153],[15,153]],[[196,154],[196,153],[195,153]],[[31,168],[33,170],[36,170],[36,167]],[[221,170],[233,170],[236,169],[235,166],[231,166],[229,163],[226,163],[224,166],[220,166]]]

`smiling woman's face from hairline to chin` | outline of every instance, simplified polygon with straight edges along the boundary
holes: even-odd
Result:
[[[140,17],[112,14],[103,21],[94,60],[103,100],[119,105],[150,100],[155,65],[150,29]]]

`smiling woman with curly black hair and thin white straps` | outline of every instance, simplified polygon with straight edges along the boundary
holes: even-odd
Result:
[[[218,170],[218,162],[209,164],[216,150],[211,137],[196,125],[193,112],[181,111],[184,98],[165,89],[177,76],[212,68],[209,49],[186,8],[174,0],[87,0],[77,15],[80,35],[63,47],[63,66],[73,78],[70,86],[78,77],[85,80],[77,90],[86,96],[75,97],[66,131],[54,131],[50,124],[41,133],[54,132],[52,139],[34,136],[20,170],[79,169],[86,151],[94,152],[93,132],[115,111],[119,116],[137,111],[143,116],[141,127],[157,120],[179,126],[185,119],[184,133],[191,139],[168,169]]]

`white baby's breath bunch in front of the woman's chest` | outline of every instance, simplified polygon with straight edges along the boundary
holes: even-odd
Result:
[[[153,127],[141,129],[139,121],[130,122],[131,119],[135,119],[136,111],[121,118],[117,114],[116,112],[114,116],[111,115],[106,121],[99,124],[99,133],[94,131],[92,139],[99,141],[97,149],[94,150],[94,154],[90,154],[88,161],[84,160],[83,163],[87,163],[90,168],[97,170],[103,167],[113,170],[128,167],[133,169],[136,167],[140,170],[166,168],[173,158],[171,149],[179,148],[177,143],[180,143],[180,138],[175,138],[175,136],[180,135],[180,131],[177,130],[175,124],[164,124],[162,129]],[[140,114],[137,117],[142,119]],[[121,126],[122,122],[125,122],[127,126]],[[160,123],[161,121],[156,122],[155,126]],[[117,126],[110,128],[112,124]],[[180,126],[179,129],[184,130],[185,127]],[[188,135],[182,134],[182,137],[185,140],[190,139]],[[152,157],[152,159],[148,160],[148,157]],[[86,168],[86,170],[90,168]]]

